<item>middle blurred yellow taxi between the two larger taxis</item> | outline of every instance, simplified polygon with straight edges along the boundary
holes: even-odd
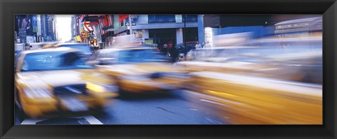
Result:
[[[90,61],[89,61],[90,62]],[[128,47],[100,50],[98,69],[117,80],[121,92],[145,93],[183,87],[187,76],[169,63],[154,47]]]

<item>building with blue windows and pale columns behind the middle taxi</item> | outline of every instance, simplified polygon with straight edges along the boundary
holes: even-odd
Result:
[[[141,39],[159,45],[198,41],[197,15],[131,15],[131,24],[128,18],[128,15],[113,15],[113,29],[107,32],[123,36],[132,31]],[[110,37],[105,42],[111,41]]]

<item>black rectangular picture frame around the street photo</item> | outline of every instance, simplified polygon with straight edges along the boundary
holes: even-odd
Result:
[[[1,0],[1,138],[336,138],[335,0]],[[323,125],[14,125],[15,14],[323,14]]]

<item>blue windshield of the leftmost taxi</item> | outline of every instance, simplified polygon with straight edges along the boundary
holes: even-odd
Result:
[[[37,52],[26,54],[21,71],[49,71],[92,68],[74,52]]]

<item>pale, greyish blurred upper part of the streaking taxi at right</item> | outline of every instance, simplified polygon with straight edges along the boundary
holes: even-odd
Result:
[[[189,72],[216,71],[322,84],[322,50],[294,51],[251,46],[204,48],[189,52],[189,61],[177,64]]]

